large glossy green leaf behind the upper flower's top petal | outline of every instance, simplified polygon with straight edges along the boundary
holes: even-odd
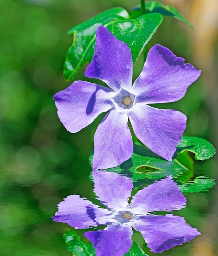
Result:
[[[96,29],[99,25],[107,27],[119,40],[127,43],[136,63],[140,53],[156,32],[162,15],[151,13],[130,20],[125,9],[113,8],[99,13],[95,17],[83,22],[68,33],[73,34],[73,44],[67,52],[64,75],[71,80],[84,63],[91,62],[96,40]]]

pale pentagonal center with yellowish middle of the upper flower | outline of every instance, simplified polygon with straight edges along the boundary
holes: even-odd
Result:
[[[133,106],[135,96],[132,93],[121,89],[113,100],[120,108],[129,109]]]

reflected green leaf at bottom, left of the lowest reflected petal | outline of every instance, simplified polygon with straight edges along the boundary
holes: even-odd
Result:
[[[64,234],[65,243],[68,245],[67,249],[73,253],[74,256],[93,256],[95,249],[91,242],[85,243],[81,236],[78,236],[74,230],[66,229]]]

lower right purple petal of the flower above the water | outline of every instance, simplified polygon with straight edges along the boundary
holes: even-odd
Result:
[[[150,150],[171,161],[186,128],[187,117],[179,111],[136,103],[129,112],[136,137]]]

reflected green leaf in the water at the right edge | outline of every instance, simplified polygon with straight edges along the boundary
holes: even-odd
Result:
[[[205,176],[196,177],[194,181],[190,181],[188,184],[178,185],[183,193],[194,193],[201,191],[208,191],[216,183],[214,179]]]

